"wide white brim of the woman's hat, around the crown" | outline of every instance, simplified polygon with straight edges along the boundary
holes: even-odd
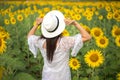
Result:
[[[56,37],[56,36],[60,35],[64,31],[66,25],[65,25],[65,22],[64,22],[64,15],[60,11],[53,10],[53,11],[48,12],[46,15],[49,15],[49,14],[54,14],[58,17],[59,26],[54,32],[48,32],[45,29],[45,27],[43,25],[41,25],[41,32],[42,32],[42,35],[44,37],[53,38],[53,37]]]

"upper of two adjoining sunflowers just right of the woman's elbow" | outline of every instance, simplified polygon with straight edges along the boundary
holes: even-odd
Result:
[[[103,35],[103,31],[101,28],[99,27],[94,27],[91,29],[91,35],[94,37],[94,38],[98,38],[100,36]]]

